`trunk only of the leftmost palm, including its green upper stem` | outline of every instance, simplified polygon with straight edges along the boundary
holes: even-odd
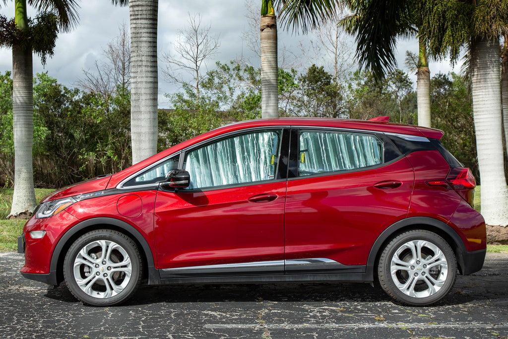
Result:
[[[27,28],[26,0],[15,2],[15,22]],[[34,96],[31,48],[12,48],[12,111],[14,120],[14,196],[11,214],[27,212],[36,206],[32,143],[34,138]]]

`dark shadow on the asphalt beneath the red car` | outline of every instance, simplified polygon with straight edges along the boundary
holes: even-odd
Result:
[[[498,277],[496,283],[482,282],[481,277],[471,284],[459,276],[450,294],[434,306],[458,305],[474,300],[506,299],[508,283]],[[504,279],[503,279],[504,278]],[[504,287],[501,285],[504,284]],[[488,286],[487,286],[488,285]],[[78,303],[65,284],[48,288],[46,297],[62,302]],[[140,306],[154,303],[197,302],[395,302],[377,284],[365,283],[279,283],[229,285],[142,285],[134,296],[121,306]]]

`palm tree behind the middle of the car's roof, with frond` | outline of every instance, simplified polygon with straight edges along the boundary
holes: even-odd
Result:
[[[306,33],[335,16],[340,0],[262,0],[261,6],[261,115],[275,118],[278,111],[277,17],[284,28]]]

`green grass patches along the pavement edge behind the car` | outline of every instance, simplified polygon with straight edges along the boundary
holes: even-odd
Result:
[[[26,220],[5,220],[11,212],[13,189],[0,189],[0,252],[16,251],[18,236],[21,235]],[[37,201],[53,190],[36,189]],[[480,186],[474,192],[474,209],[480,211]],[[508,253],[508,245],[487,245],[489,253]]]

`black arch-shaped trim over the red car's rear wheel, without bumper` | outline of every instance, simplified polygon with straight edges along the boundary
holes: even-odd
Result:
[[[455,254],[459,271],[463,274],[465,267],[464,253],[466,253],[467,250],[459,234],[453,228],[437,219],[428,217],[411,217],[398,221],[388,227],[377,237],[376,241],[372,245],[367,259],[367,274],[372,280],[374,280],[374,272],[376,271],[379,256],[386,244],[388,244],[388,242],[398,234],[416,229],[434,232],[443,238],[444,241],[448,242]]]

